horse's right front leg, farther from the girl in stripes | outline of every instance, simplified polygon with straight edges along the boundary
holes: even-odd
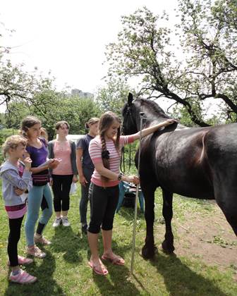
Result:
[[[162,249],[166,253],[174,252],[174,235],[171,228],[171,220],[173,218],[173,193],[162,189],[163,195],[163,209],[162,214],[166,224],[166,232],[164,235],[164,242],[162,242]]]

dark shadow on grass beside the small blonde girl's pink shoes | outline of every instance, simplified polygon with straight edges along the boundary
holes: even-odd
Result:
[[[29,285],[19,285],[16,283],[8,283],[8,287],[4,293],[4,296],[11,295],[66,295],[63,293],[62,288],[56,283],[53,278],[54,270],[56,268],[55,259],[50,252],[47,252],[46,259],[35,259],[40,260],[42,264],[36,266],[35,263],[27,266],[26,271],[37,276],[37,282]],[[40,292],[39,292],[40,291]]]

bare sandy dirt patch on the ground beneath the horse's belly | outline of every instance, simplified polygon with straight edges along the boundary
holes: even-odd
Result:
[[[236,271],[237,280],[237,239],[219,206],[213,202],[214,212],[208,215],[188,213],[186,221],[176,224],[175,253],[190,258],[200,258],[219,269]]]

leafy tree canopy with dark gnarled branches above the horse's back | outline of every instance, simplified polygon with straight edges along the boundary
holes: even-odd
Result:
[[[107,46],[109,78],[140,78],[141,93],[173,99],[190,120],[205,121],[205,100],[220,99],[221,116],[236,121],[236,0],[180,0],[176,34],[183,56],[172,44],[166,13],[147,8],[122,17],[118,40]]]

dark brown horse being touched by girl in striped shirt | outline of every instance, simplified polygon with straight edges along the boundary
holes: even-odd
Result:
[[[140,112],[147,117],[145,127],[169,118],[154,101],[133,101],[129,94],[128,103],[123,107],[124,134],[140,130]],[[216,199],[237,235],[237,123],[208,128],[186,128],[174,123],[144,137],[140,149],[140,185],[145,196],[147,223],[143,257],[154,256],[154,192],[159,186],[166,223],[162,242],[165,252],[174,251],[171,229],[174,193]]]

